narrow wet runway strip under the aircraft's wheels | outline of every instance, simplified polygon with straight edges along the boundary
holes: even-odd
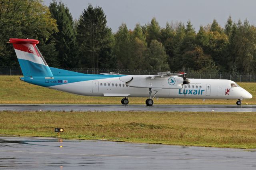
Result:
[[[0,105],[0,111],[256,112],[256,105]]]

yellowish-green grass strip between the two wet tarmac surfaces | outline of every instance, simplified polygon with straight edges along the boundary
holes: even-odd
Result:
[[[256,113],[0,112],[0,134],[256,148]]]

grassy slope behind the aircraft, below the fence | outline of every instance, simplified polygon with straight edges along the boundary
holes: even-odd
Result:
[[[74,104],[120,104],[122,97],[86,97],[60,92],[20,81],[19,76],[0,76],[0,104],[38,104],[38,103],[74,103]],[[238,83],[256,96],[256,83]],[[130,97],[130,104],[145,104],[146,98]],[[155,99],[155,104],[232,104],[235,100],[206,99]],[[249,105],[256,104],[256,97],[244,100]]]

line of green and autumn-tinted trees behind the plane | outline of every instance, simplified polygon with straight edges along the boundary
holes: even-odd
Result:
[[[40,40],[52,67],[256,72],[256,27],[231,16],[224,28],[215,19],[198,31],[190,21],[161,28],[152,18],[113,33],[100,6],[88,4],[73,20],[61,1],[0,0],[0,66],[18,67],[9,38]]]

